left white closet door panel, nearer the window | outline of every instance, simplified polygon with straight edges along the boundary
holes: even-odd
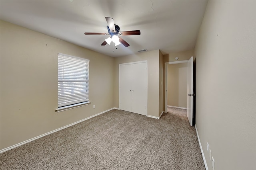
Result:
[[[119,109],[132,112],[132,64],[119,66]]]

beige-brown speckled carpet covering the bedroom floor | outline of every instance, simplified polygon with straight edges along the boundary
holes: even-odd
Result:
[[[1,170],[205,170],[184,116],[111,110],[0,154]]]

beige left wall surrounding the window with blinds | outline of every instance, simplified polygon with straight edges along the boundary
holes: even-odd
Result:
[[[0,24],[0,149],[114,107],[114,58],[5,21]],[[92,104],[55,112],[58,52],[90,59]]]

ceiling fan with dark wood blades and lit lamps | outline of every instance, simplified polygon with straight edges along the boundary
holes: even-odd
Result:
[[[130,44],[128,44],[124,39],[119,37],[118,35],[140,35],[140,30],[134,30],[134,31],[122,31],[119,32],[120,27],[114,23],[114,19],[110,17],[105,17],[106,21],[108,23],[108,33],[84,33],[85,35],[110,35],[111,37],[108,37],[105,39],[105,41],[101,45],[106,45],[107,43],[110,45],[111,41],[115,43],[115,45],[119,45],[120,43],[124,45],[125,47],[128,47]]]

